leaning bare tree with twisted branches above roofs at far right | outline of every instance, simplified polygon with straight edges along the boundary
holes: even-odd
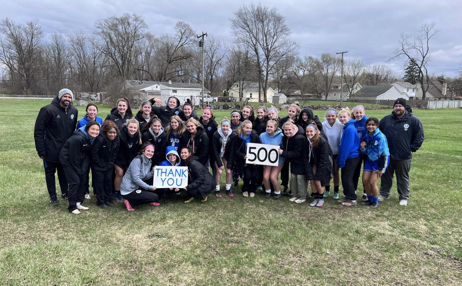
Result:
[[[419,82],[422,90],[422,99],[426,99],[426,92],[430,88],[428,84],[427,64],[430,61],[430,40],[440,30],[435,28],[435,23],[423,24],[419,35],[411,39],[410,35],[401,34],[400,47],[395,49],[395,55],[390,59],[404,57],[406,62],[412,62],[419,67]],[[406,66],[406,64],[405,64]],[[426,85],[424,85],[426,83]]]

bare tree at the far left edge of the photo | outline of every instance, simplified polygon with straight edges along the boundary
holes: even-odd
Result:
[[[40,69],[43,30],[38,20],[15,24],[5,18],[0,24],[0,63],[8,68],[15,80],[24,80],[26,89],[31,89]]]

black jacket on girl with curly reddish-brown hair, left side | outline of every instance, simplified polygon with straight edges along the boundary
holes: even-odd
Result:
[[[109,141],[106,135],[99,133],[91,144],[91,170],[92,172],[108,173],[114,168],[119,153],[120,140],[119,137]]]

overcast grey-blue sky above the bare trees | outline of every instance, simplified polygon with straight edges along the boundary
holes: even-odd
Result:
[[[47,34],[55,30],[95,30],[97,19],[137,13],[152,33],[173,33],[179,20],[196,32],[231,41],[229,18],[247,0],[1,0],[0,18],[25,23],[40,20]],[[253,1],[253,3],[258,3]],[[402,61],[387,62],[402,32],[417,35],[419,27],[435,22],[441,31],[432,39],[430,72],[454,76],[462,60],[462,1],[459,0],[265,0],[286,17],[300,55],[348,51],[365,64],[388,64],[402,72]],[[224,37],[224,38],[223,38]]]

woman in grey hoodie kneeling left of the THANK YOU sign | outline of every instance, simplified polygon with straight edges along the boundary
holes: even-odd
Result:
[[[140,155],[133,159],[123,175],[120,193],[128,211],[133,211],[135,210],[133,207],[145,203],[153,206],[159,205],[156,203],[159,199],[158,195],[152,192],[156,188],[146,183],[154,175],[154,167],[151,167],[153,155],[154,146],[149,142],[144,143]]]

